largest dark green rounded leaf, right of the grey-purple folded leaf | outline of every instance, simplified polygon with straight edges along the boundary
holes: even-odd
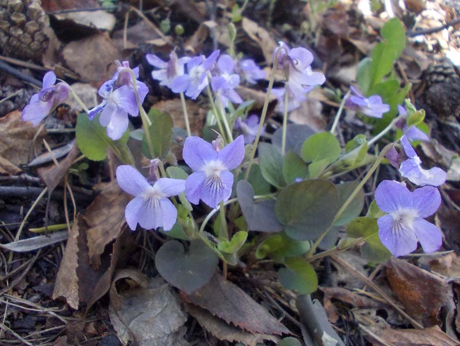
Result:
[[[323,233],[338,210],[333,183],[311,179],[287,186],[276,199],[275,213],[286,234],[296,240],[313,240]]]

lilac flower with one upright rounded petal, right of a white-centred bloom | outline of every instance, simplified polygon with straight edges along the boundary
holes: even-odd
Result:
[[[224,107],[227,107],[228,100],[233,103],[241,103],[243,100],[234,90],[240,84],[240,76],[233,73],[235,61],[228,55],[222,55],[217,60],[218,75],[211,78],[211,86],[217,92],[217,96]]]

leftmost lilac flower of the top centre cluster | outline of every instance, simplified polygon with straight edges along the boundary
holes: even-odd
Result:
[[[178,59],[174,50],[169,54],[168,62],[153,54],[147,54],[146,58],[149,64],[159,69],[152,71],[152,78],[160,81],[160,86],[169,88],[176,77],[184,74],[184,65],[190,60],[187,56]]]

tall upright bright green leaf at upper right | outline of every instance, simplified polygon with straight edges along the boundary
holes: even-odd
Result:
[[[395,60],[406,46],[406,31],[398,18],[386,22],[380,30],[380,35],[385,41],[377,44],[372,50],[371,88],[391,72]]]

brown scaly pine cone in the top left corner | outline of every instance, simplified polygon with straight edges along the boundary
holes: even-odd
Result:
[[[3,54],[40,61],[48,47],[50,21],[40,0],[0,0],[0,47]]]

